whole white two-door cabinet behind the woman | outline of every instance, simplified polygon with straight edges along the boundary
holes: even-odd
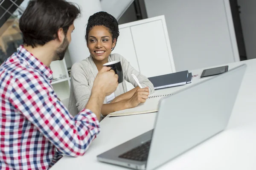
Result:
[[[119,38],[112,53],[121,54],[146,77],[175,72],[164,16],[119,25]],[[127,88],[134,88],[127,83]]]

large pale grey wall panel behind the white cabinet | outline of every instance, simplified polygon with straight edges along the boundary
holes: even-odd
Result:
[[[148,17],[165,15],[176,71],[239,61],[228,0],[145,0],[145,6]]]

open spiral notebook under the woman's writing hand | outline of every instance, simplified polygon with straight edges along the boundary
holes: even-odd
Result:
[[[156,95],[156,96],[149,96],[145,103],[140,103],[135,108],[125,109],[122,111],[116,111],[110,113],[110,117],[114,116],[128,116],[128,115],[135,115],[135,114],[143,114],[143,113],[152,113],[158,111],[158,103],[162,97],[171,96],[172,94],[163,94],[163,95]]]

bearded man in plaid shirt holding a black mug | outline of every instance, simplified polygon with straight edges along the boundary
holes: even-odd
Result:
[[[33,0],[20,18],[24,45],[0,66],[0,169],[48,169],[58,150],[82,156],[99,133],[106,95],[118,76],[104,67],[75,117],[58,101],[48,68],[63,59],[80,10],[65,0]]]

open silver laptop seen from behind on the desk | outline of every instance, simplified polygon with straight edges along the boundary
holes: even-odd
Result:
[[[160,100],[154,129],[97,156],[98,161],[153,170],[223,131],[246,65]]]

